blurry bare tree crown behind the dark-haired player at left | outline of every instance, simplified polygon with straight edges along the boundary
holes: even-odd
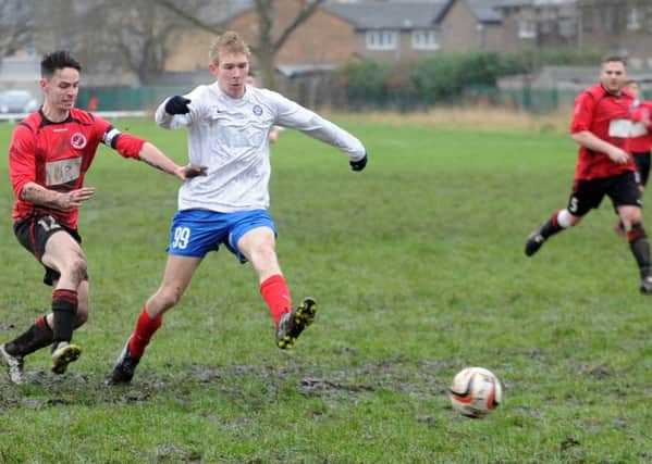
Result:
[[[208,1],[184,4],[198,9]],[[89,74],[104,76],[103,84],[124,72],[140,85],[153,84],[187,24],[156,0],[50,0],[37,15],[41,48],[72,50]]]

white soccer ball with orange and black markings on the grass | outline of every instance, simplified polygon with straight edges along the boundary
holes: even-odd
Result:
[[[503,402],[503,385],[489,369],[466,367],[448,389],[453,409],[467,417],[482,417]]]

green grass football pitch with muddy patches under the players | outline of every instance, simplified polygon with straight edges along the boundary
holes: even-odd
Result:
[[[0,462],[652,462],[652,300],[638,292],[611,205],[533,259],[522,253],[530,229],[566,203],[569,137],[337,121],[366,142],[365,172],[297,133],[273,147],[281,264],[294,299],[320,304],[295,350],[274,347],[255,273],[221,251],[126,388],[103,380],[159,285],[177,183],[98,153],[79,224],[85,351],[62,377],[42,350],[27,359],[27,385],[0,380]],[[185,159],[182,130],[116,125]],[[11,128],[0,125],[0,146]],[[5,165],[2,176],[9,340],[51,289],[13,236]],[[450,407],[446,387],[468,365],[506,387],[484,419]]]

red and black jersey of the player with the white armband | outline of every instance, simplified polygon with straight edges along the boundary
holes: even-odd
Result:
[[[28,183],[67,192],[84,185],[84,176],[99,143],[122,156],[138,159],[145,140],[122,134],[111,123],[87,111],[72,109],[60,123],[49,121],[39,110],[16,125],[9,148],[9,172],[16,202],[13,221],[47,213],[70,228],[77,228],[78,210],[60,211],[21,199]]]

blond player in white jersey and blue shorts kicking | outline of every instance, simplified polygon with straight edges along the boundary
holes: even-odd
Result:
[[[249,55],[236,33],[224,33],[209,53],[208,67],[217,80],[167,99],[156,112],[161,127],[187,128],[189,161],[208,170],[179,191],[163,280],[145,302],[118,359],[110,377],[114,385],[132,380],[163,313],[179,302],[206,254],[221,244],[256,271],[276,325],[279,348],[292,348],[315,318],[317,305],[311,298],[292,308],[276,259],[276,229],[268,212],[269,133],[279,124],[330,143],[348,156],[353,171],[365,168],[367,153],[356,137],[312,111],[274,91],[246,85]]]

